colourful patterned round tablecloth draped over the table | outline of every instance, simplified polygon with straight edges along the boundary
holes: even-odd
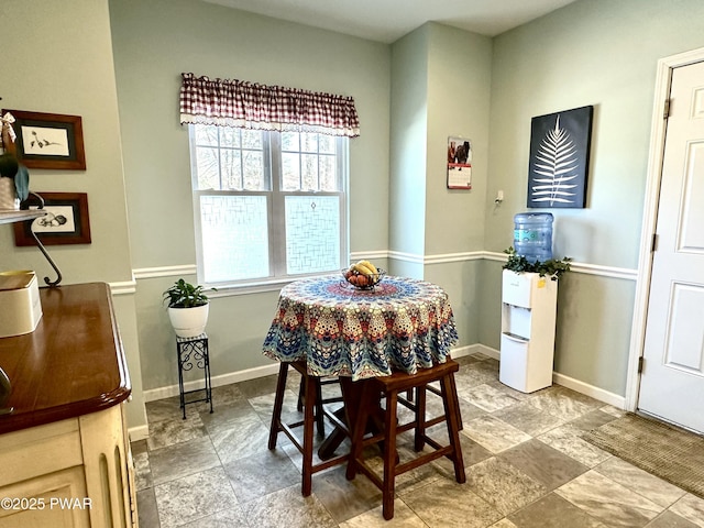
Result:
[[[444,363],[458,340],[448,295],[439,286],[386,276],[359,290],[339,275],[285,286],[263,353],[306,360],[309,374],[386,376]]]

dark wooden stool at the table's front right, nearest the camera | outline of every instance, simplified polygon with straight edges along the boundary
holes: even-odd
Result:
[[[446,363],[435,365],[430,369],[419,369],[416,374],[395,372],[391,376],[370,380],[370,386],[365,387],[362,393],[362,403],[354,421],[352,453],[348,462],[346,477],[349,480],[354,479],[359,470],[382,490],[383,513],[386,520],[394,517],[395,482],[396,476],[402,473],[414,470],[441,457],[447,457],[454,463],[455,480],[460,484],[466,480],[459,436],[460,406],[458,403],[457,387],[454,385],[454,373],[459,367],[460,365],[455,361],[448,359]],[[431,420],[426,420],[426,389],[429,383],[436,381],[440,382],[440,394],[443,402],[444,415]],[[405,393],[409,389],[416,389],[415,403],[405,402],[404,405],[414,410],[415,418],[414,421],[398,425],[396,417],[399,400],[398,393]],[[378,435],[364,438],[366,424],[378,408],[378,397],[381,393],[386,395],[384,430]],[[448,427],[448,437],[450,439],[448,446],[441,446],[426,435],[428,427],[440,424],[441,421],[444,421]],[[396,452],[396,436],[410,429],[415,429],[414,448],[416,451],[422,450],[426,443],[430,446],[433,451],[399,464]],[[363,449],[381,440],[384,440],[383,480],[366,465],[363,459]]]

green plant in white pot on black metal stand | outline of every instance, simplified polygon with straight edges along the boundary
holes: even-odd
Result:
[[[205,331],[210,305],[202,286],[194,286],[179,278],[164,292],[163,301],[167,304],[176,336],[195,338]]]

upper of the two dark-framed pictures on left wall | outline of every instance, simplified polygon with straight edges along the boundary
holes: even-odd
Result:
[[[29,168],[85,170],[86,153],[80,116],[2,110],[14,118],[14,151],[18,161]]]

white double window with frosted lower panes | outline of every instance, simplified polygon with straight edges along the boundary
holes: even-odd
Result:
[[[346,262],[348,138],[190,124],[198,280],[276,282]]]

